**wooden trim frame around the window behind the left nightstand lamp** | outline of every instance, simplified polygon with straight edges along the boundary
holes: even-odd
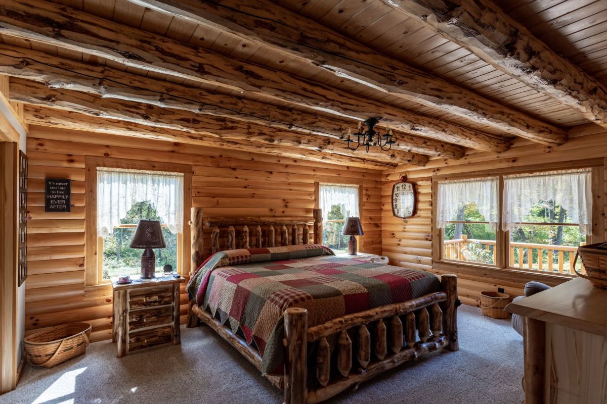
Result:
[[[97,168],[124,168],[144,171],[169,171],[183,173],[183,233],[177,235],[177,271],[188,276],[190,269],[190,225],[189,212],[192,209],[192,166],[166,162],[146,162],[138,160],[117,159],[114,157],[86,156],[85,167],[85,258],[84,290],[85,297],[96,297],[95,291],[103,290],[110,285],[109,279],[103,279],[103,239],[97,236]],[[101,240],[100,240],[101,239]]]

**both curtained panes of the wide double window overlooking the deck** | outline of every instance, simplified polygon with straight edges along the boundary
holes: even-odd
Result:
[[[591,177],[583,168],[439,181],[434,259],[574,274],[591,234]]]

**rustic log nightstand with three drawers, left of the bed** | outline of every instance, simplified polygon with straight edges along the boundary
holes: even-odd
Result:
[[[117,357],[151,346],[179,345],[179,299],[183,276],[152,279],[131,278],[131,283],[112,282],[114,334]]]

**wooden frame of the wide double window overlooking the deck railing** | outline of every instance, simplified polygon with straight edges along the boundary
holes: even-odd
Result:
[[[533,165],[527,167],[501,168],[498,170],[475,171],[466,174],[452,176],[432,177],[432,204],[438,206],[438,182],[447,179],[469,179],[480,176],[498,176],[498,228],[495,234],[496,247],[495,265],[486,265],[483,263],[466,262],[461,260],[446,259],[443,257],[443,229],[436,227],[436,209],[432,210],[432,264],[433,267],[440,270],[458,270],[461,268],[470,268],[471,270],[492,270],[504,271],[505,273],[526,273],[534,274],[540,277],[557,277],[572,279],[577,277],[575,274],[549,273],[548,271],[535,270],[530,268],[520,268],[510,265],[510,231],[502,230],[502,210],[503,210],[503,191],[504,176],[510,174],[534,174],[555,170],[571,170],[574,168],[590,168],[592,176],[592,234],[586,236],[586,243],[600,242],[605,236],[605,220],[603,220],[603,207],[605,206],[605,193],[603,187],[605,184],[605,161],[604,159],[588,159],[580,162],[566,162]],[[554,224],[552,224],[554,225]],[[516,265],[516,263],[515,263]]]

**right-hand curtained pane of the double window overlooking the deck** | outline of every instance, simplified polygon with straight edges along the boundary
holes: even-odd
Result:
[[[591,233],[591,170],[504,176],[504,207],[510,267],[574,273],[575,251]]]

